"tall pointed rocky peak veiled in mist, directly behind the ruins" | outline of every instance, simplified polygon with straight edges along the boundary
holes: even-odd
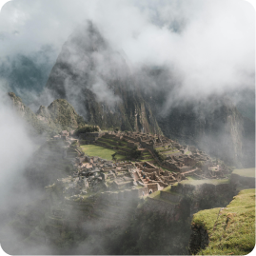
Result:
[[[64,45],[47,88],[55,98],[67,99],[91,125],[160,132],[150,106],[133,89],[125,59],[90,23]]]

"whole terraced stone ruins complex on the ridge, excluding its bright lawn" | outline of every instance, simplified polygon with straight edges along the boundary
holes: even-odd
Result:
[[[71,156],[76,169],[72,176],[57,182],[65,188],[67,200],[83,201],[94,193],[138,198],[186,180],[187,176],[224,178],[226,174],[203,151],[161,135],[109,131],[82,133],[75,138],[73,132],[70,135],[64,130],[53,140],[65,142],[63,157]],[[81,145],[88,144],[114,149],[113,161],[85,155],[87,150],[83,152]],[[137,159],[134,152],[139,152]],[[117,161],[116,154],[127,160]]]

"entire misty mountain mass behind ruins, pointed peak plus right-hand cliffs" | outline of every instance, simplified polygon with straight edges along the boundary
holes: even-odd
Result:
[[[91,125],[145,132],[161,128],[166,136],[228,163],[248,163],[243,159],[251,133],[245,132],[244,117],[231,97],[178,103],[176,82],[167,67],[132,66],[89,22],[64,45],[45,94],[66,98]],[[169,108],[171,102],[175,105]]]

